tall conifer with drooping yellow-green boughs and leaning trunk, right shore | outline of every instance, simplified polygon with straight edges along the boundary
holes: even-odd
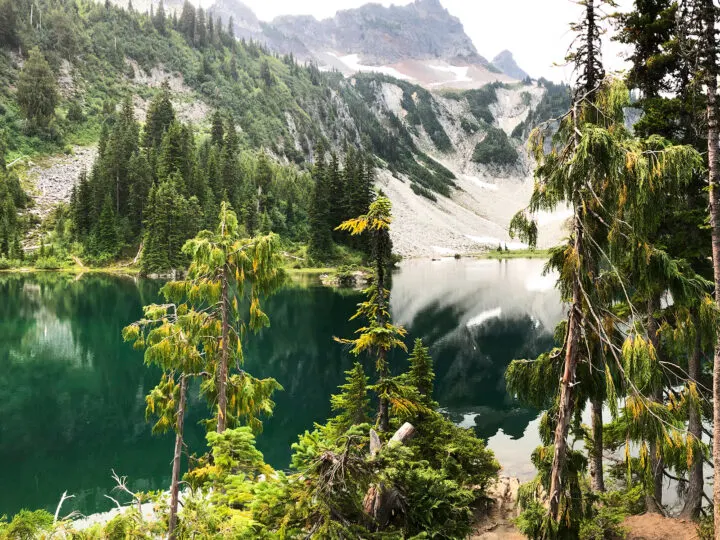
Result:
[[[584,77],[583,80],[587,80],[587,75]],[[565,117],[559,137],[555,139],[549,153],[545,153],[545,136],[540,134],[541,131],[536,131],[532,137],[538,160],[538,183],[531,198],[531,210],[552,208],[560,200],[571,202],[575,210],[571,243],[558,250],[551,259],[551,265],[560,271],[561,291],[566,298],[571,299],[570,315],[565,326],[565,343],[561,349],[565,362],[561,370],[557,421],[552,440],[554,457],[546,477],[549,482],[545,486],[549,490],[550,499],[551,522],[548,526],[552,524],[553,527],[570,523],[575,512],[573,504],[576,501],[572,501],[573,496],[567,491],[575,489],[573,485],[576,486],[576,482],[573,484],[568,477],[567,467],[571,465],[568,456],[572,452],[567,446],[567,437],[577,403],[578,389],[575,387],[580,385],[578,364],[581,350],[592,350],[593,334],[608,347],[615,346],[599,318],[603,313],[609,315],[611,305],[598,303],[593,296],[592,291],[597,284],[593,281],[595,276],[590,271],[592,266],[589,263],[602,259],[603,264],[617,272],[619,261],[608,253],[626,253],[633,242],[650,249],[643,236],[647,232],[644,222],[651,212],[646,190],[662,189],[671,177],[687,183],[699,163],[699,156],[692,148],[674,147],[654,138],[639,141],[630,137],[626,131],[614,128],[615,125],[622,125],[622,107],[627,103],[628,92],[616,82],[601,88],[602,91],[593,96],[592,101],[588,100],[588,92],[576,94],[578,97],[573,110]],[[628,167],[628,163],[632,166]],[[596,230],[598,224],[606,228],[603,234]],[[523,213],[513,219],[512,228],[522,229],[526,240],[531,239],[537,231],[534,222]],[[619,229],[623,229],[622,233]],[[628,245],[619,245],[625,240]],[[614,244],[611,245],[612,249],[608,243]],[[619,272],[616,274],[619,279],[623,279],[621,275]],[[645,351],[639,353],[644,358],[654,357],[654,347],[647,337],[643,337],[643,332],[647,336],[651,327],[635,329],[627,338],[635,348],[623,347],[624,357],[631,355],[632,351]],[[608,360],[601,360],[606,366],[604,370],[610,393],[611,370],[607,367]],[[615,352],[611,360],[619,361]],[[603,368],[597,366],[595,369]],[[625,377],[623,380],[638,403],[652,408],[652,404],[643,398],[631,379]],[[586,380],[580,388],[588,382]],[[612,403],[614,398],[610,401]],[[667,427],[672,429],[672,426]]]

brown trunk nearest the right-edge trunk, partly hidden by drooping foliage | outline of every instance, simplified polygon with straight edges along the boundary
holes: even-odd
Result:
[[[702,340],[700,336],[700,316],[697,309],[692,312],[693,326],[695,327],[695,345],[688,361],[689,382],[693,383],[700,378],[700,359],[702,354]],[[702,424],[700,414],[695,407],[688,411],[688,434],[697,441],[702,439]],[[688,491],[685,495],[685,506],[680,513],[683,519],[696,519],[700,515],[703,496],[703,459],[701,453],[695,454],[692,467],[688,474]]]

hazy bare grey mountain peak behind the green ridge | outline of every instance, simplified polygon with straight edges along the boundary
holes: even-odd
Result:
[[[358,54],[374,65],[408,59],[464,59],[487,64],[465,34],[459,19],[439,0],[416,0],[407,6],[366,4],[318,21],[308,16],[276,18],[272,25],[315,52]]]

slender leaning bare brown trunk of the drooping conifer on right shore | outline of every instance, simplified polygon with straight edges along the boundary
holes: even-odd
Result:
[[[574,252],[580,257],[582,252],[582,227],[580,225],[580,208],[575,207],[575,235]],[[580,262],[578,262],[580,264]],[[570,420],[573,413],[572,385],[575,383],[575,370],[577,367],[578,343],[580,340],[580,319],[582,317],[582,297],[580,291],[580,269],[576,268],[573,275],[573,296],[570,307],[570,320],[568,321],[567,341],[565,343],[565,369],[560,381],[560,403],[558,406],[558,420],[555,427],[555,453],[553,455],[552,471],[550,473],[550,516],[557,520],[560,510],[560,496],[563,489],[562,473],[567,458],[567,436],[570,429]]]

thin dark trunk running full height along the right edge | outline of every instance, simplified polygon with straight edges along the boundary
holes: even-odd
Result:
[[[715,5],[713,0],[702,3],[705,85],[707,88],[708,122],[708,183],[710,187],[710,225],[712,231],[715,302],[720,305],[720,193],[718,193],[718,119],[717,119],[717,42],[715,37]],[[720,333],[717,335],[713,363],[713,502],[715,538],[720,539]]]

